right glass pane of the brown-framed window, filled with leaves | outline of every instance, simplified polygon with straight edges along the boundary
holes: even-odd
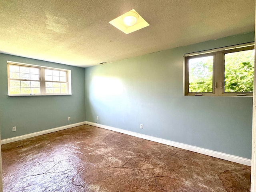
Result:
[[[253,92],[254,50],[225,54],[224,92]]]

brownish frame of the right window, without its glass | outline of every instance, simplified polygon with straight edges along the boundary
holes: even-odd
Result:
[[[224,92],[225,54],[244,51],[244,50],[252,50],[252,49],[254,49],[254,42],[184,54],[184,67],[183,67],[184,95],[185,96],[253,96],[253,92],[246,92],[246,93]],[[205,56],[213,56],[212,92],[203,92],[203,93],[189,92],[188,59],[205,57]]]

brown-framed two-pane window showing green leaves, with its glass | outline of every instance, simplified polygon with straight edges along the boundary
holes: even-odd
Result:
[[[184,55],[184,95],[252,96],[254,43]]]

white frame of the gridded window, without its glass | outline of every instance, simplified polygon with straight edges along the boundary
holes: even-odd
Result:
[[[10,79],[10,70],[9,70],[10,65],[38,68],[39,69],[39,80],[32,80],[32,81],[40,82],[40,94],[10,94],[10,80],[31,81],[31,80],[24,80],[24,79]],[[58,71],[66,72],[67,93],[50,93],[50,94],[46,93],[45,82],[60,82],[60,81],[46,81],[45,80],[45,75],[44,75],[44,70],[45,69],[58,70]],[[8,75],[8,96],[72,95],[72,92],[71,92],[71,70],[61,69],[61,68],[53,68],[53,67],[46,67],[46,66],[40,66],[40,65],[32,65],[32,64],[26,64],[26,63],[20,63],[20,62],[7,61],[7,75]]]

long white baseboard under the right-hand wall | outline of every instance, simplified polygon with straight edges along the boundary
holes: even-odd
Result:
[[[235,163],[239,163],[239,164],[243,164],[243,165],[247,165],[247,166],[251,166],[251,164],[252,164],[252,161],[250,159],[243,158],[243,157],[238,157],[238,156],[234,156],[234,155],[230,155],[230,154],[226,154],[226,153],[221,153],[221,152],[217,152],[217,151],[213,151],[213,150],[209,150],[209,149],[195,147],[195,146],[192,146],[192,145],[187,145],[187,144],[183,144],[183,143],[179,143],[179,142],[174,142],[174,141],[170,141],[170,140],[166,140],[166,139],[161,139],[161,138],[157,138],[157,137],[153,137],[153,136],[148,136],[148,135],[144,135],[144,134],[140,134],[140,133],[136,133],[136,132],[132,132],[132,131],[127,131],[127,130],[123,130],[123,129],[119,129],[119,128],[115,128],[115,127],[110,127],[110,126],[98,124],[98,123],[93,123],[93,122],[86,121],[86,124],[96,126],[96,127],[99,127],[99,128],[112,130],[112,131],[115,131],[115,132],[120,132],[120,133],[131,135],[131,136],[135,136],[135,137],[138,137],[138,138],[142,138],[142,139],[146,139],[146,140],[150,140],[150,141],[170,145],[170,146],[173,146],[173,147],[186,149],[186,150],[189,150],[189,151],[193,151],[193,152],[197,152],[197,153],[200,153],[200,154],[216,157],[216,158],[219,158],[219,159],[228,160],[228,161],[231,161],[231,162],[235,162]]]

